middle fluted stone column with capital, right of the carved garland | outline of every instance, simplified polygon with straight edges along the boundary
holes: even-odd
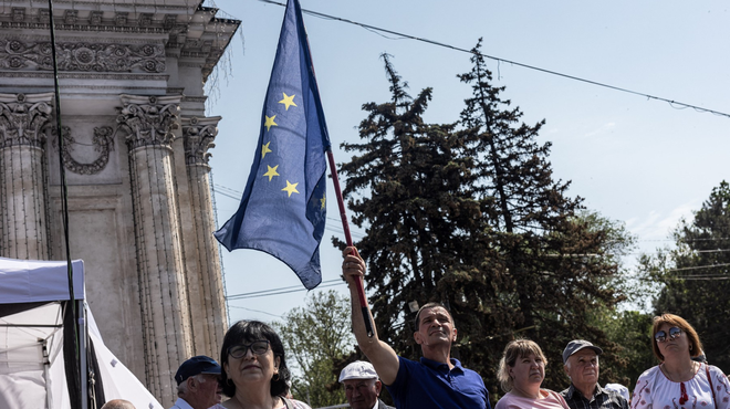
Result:
[[[121,95],[127,132],[147,386],[170,406],[190,357],[190,305],[180,242],[171,141],[181,96]]]

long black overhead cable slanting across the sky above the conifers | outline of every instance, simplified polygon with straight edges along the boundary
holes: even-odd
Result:
[[[272,0],[259,0],[259,1],[264,2],[264,3],[271,3],[271,4],[278,4],[278,6],[286,7],[286,4],[284,4],[284,3],[280,3],[278,1],[272,1]],[[438,41],[428,40],[428,39],[424,39],[424,38],[420,38],[420,36],[410,35],[410,34],[405,34],[405,33],[400,33],[400,32],[397,32],[397,31],[393,31],[393,30],[382,29],[379,27],[369,25],[369,24],[361,23],[361,22],[357,22],[357,21],[348,20],[348,19],[343,19],[343,18],[336,17],[336,15],[330,15],[330,14],[325,14],[325,13],[321,13],[321,12],[312,11],[312,10],[306,10],[306,9],[302,9],[302,12],[307,13],[310,15],[319,17],[319,18],[322,18],[322,19],[336,20],[336,21],[341,21],[343,23],[358,25],[358,27],[362,27],[363,29],[368,30],[368,31],[376,31],[376,32],[383,32],[383,33],[388,33],[388,34],[393,34],[393,35],[399,35],[403,39],[420,41],[420,42],[425,42],[425,43],[428,43],[428,44],[432,44],[432,45],[442,46],[442,48],[446,48],[446,49],[451,49],[451,50],[455,50],[455,51],[460,51],[460,52],[473,54],[473,52],[471,52],[471,50],[462,49],[462,48],[459,48],[459,46],[456,46],[456,45],[446,44],[446,43],[441,43],[441,42],[438,42]],[[719,116],[726,116],[726,117],[730,118],[730,114],[727,114],[727,113],[723,113],[723,112],[719,112],[719,111],[715,111],[715,109],[708,109],[708,108],[703,108],[701,106],[686,104],[686,103],[682,103],[682,102],[679,102],[679,101],[664,98],[664,97],[660,97],[660,96],[649,95],[649,94],[646,94],[646,93],[632,91],[632,90],[624,88],[624,87],[620,87],[620,86],[604,84],[604,83],[601,83],[601,82],[597,82],[597,81],[582,78],[582,77],[575,76],[575,75],[563,74],[563,73],[560,73],[560,72],[556,72],[556,71],[542,69],[542,67],[539,67],[539,66],[535,66],[535,65],[524,64],[524,63],[520,63],[520,62],[512,61],[512,60],[505,60],[505,59],[501,59],[501,57],[484,54],[484,53],[479,53],[479,55],[481,55],[486,59],[494,60],[497,62],[508,63],[508,64],[521,66],[523,69],[539,71],[539,72],[542,72],[542,73],[545,73],[545,74],[561,76],[563,78],[578,81],[578,82],[582,82],[582,83],[596,85],[596,86],[601,86],[601,87],[604,87],[604,88],[619,91],[619,92],[624,92],[624,93],[628,93],[628,94],[639,95],[639,96],[644,96],[648,99],[663,101],[663,102],[666,102],[667,104],[669,104],[669,106],[671,106],[672,108],[676,108],[676,109],[677,108],[678,109],[692,108],[692,109],[695,109],[697,112],[700,112],[700,113],[710,113],[710,114],[715,114],[715,115],[719,115]]]

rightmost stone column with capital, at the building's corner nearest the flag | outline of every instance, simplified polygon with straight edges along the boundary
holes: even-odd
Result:
[[[197,270],[188,269],[188,286],[190,296],[197,295],[200,307],[194,308],[192,323],[198,325],[195,334],[196,354],[217,357],[223,344],[223,335],[228,328],[226,318],[226,300],[223,294],[218,242],[212,233],[216,230],[213,220],[212,198],[210,196],[209,148],[218,134],[216,126],[220,116],[199,118],[182,118],[182,136],[185,145],[185,162],[187,165],[190,191],[190,207],[195,226],[196,252],[188,254],[188,260],[197,259]]]

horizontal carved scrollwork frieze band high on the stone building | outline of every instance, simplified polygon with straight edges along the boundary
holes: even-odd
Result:
[[[56,44],[60,71],[92,72],[165,72],[165,48],[161,44]],[[51,43],[46,41],[0,40],[0,69],[53,70]]]

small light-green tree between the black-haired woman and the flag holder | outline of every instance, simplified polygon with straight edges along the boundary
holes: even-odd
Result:
[[[295,399],[313,408],[345,402],[334,368],[355,344],[350,319],[350,301],[330,290],[313,292],[305,307],[293,308],[283,323],[272,324],[290,357]]]

